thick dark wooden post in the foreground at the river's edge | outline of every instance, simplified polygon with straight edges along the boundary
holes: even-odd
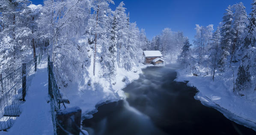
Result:
[[[79,107],[71,107],[57,111],[57,135],[79,135],[81,112],[82,110]]]

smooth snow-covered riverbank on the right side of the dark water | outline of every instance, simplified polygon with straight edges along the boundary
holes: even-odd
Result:
[[[232,92],[232,79],[216,76],[213,82],[210,75],[193,76],[186,70],[176,70],[175,81],[189,81],[188,86],[196,87],[194,97],[205,106],[217,109],[228,119],[256,131],[256,102],[252,95],[237,96]],[[229,73],[226,73],[229,74]]]

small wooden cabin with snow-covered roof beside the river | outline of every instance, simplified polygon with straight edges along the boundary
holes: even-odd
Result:
[[[144,56],[145,65],[147,64],[156,65],[164,62],[164,59],[162,59],[162,54],[158,50],[143,51],[143,56]]]

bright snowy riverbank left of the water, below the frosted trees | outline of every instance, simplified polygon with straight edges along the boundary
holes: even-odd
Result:
[[[98,112],[98,106],[125,99],[126,96],[122,89],[139,79],[140,74],[143,73],[141,69],[149,66],[154,65],[140,63],[137,72],[118,68],[115,80],[104,77],[86,78],[81,82],[69,84],[61,91],[65,98],[70,101],[67,106],[79,106],[82,109],[82,119],[89,119],[93,117],[92,114]]]

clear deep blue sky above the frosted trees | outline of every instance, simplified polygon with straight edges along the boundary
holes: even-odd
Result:
[[[43,0],[31,0],[33,4],[42,4]],[[223,13],[229,5],[243,2],[247,13],[251,11],[252,0],[113,0],[115,9],[124,1],[131,22],[137,22],[140,29],[146,30],[151,40],[154,35],[169,27],[172,31],[183,31],[192,41],[195,24],[207,26],[214,24],[214,29],[222,21]]]

